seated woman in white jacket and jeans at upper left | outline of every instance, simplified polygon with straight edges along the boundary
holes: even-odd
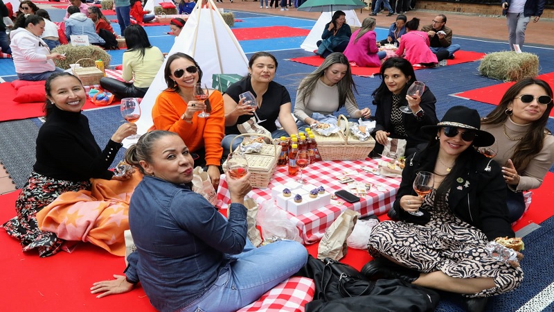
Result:
[[[65,60],[65,56],[51,53],[46,42],[40,39],[44,26],[42,17],[21,14],[10,32],[13,64],[20,80],[46,80],[53,73],[64,71],[56,67],[53,59]]]

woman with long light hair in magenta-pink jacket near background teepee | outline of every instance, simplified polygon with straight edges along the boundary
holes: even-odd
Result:
[[[361,28],[350,37],[350,42],[344,50],[344,55],[359,67],[379,67],[386,52],[379,51],[375,40],[375,19],[366,17],[361,23]]]

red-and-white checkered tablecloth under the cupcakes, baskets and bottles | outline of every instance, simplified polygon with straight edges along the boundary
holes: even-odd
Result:
[[[304,169],[303,177],[308,183],[314,184],[316,187],[323,185],[325,190],[334,193],[341,189],[347,189],[346,184],[342,184],[337,180],[337,175],[343,175],[345,171],[357,171],[355,175],[350,175],[357,182],[371,183],[371,191],[359,202],[350,204],[345,202],[344,205],[334,206],[328,205],[317,210],[308,212],[300,216],[287,214],[296,227],[300,230],[301,237],[304,243],[316,243],[325,234],[333,221],[346,209],[358,211],[361,216],[370,214],[380,215],[385,214],[391,208],[395,200],[396,192],[400,186],[400,178],[384,177],[382,175],[373,175],[361,170],[361,167],[368,166],[377,171],[377,161],[375,159],[356,160],[356,161],[332,161],[332,162],[316,162],[310,164]],[[277,167],[273,175],[273,179],[269,183],[267,189],[253,189],[249,196],[261,204],[265,200],[271,199],[271,188],[278,184],[285,184],[287,181],[294,181],[297,176],[288,174],[287,167]],[[384,191],[377,191],[377,186],[380,186]],[[222,202],[222,209],[226,209],[230,202],[229,189],[225,175],[222,175],[220,187],[217,189],[217,199]],[[340,199],[339,199],[340,200]],[[342,201],[342,200],[341,200]]]

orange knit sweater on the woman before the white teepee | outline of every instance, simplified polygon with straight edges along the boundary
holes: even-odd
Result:
[[[199,112],[193,115],[193,123],[181,119],[186,110],[185,101],[177,92],[165,90],[156,98],[152,107],[152,120],[157,130],[168,130],[177,133],[190,152],[204,147],[206,164],[220,166],[225,128],[225,115],[222,94],[215,90],[209,97],[212,111],[208,118],[199,118]]]

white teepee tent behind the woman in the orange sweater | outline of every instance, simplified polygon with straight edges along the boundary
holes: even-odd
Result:
[[[175,40],[168,55],[177,52],[192,56],[202,68],[204,76],[202,83],[208,87],[212,85],[214,73],[238,73],[246,75],[248,71],[248,59],[238,44],[238,40],[215,7],[213,0],[208,0],[211,8],[200,8],[202,1],[190,13],[179,37]],[[144,134],[152,125],[152,107],[157,96],[168,86],[163,76],[166,61],[163,62],[152,85],[146,92],[141,102],[141,119],[136,122],[139,135]],[[209,117],[208,117],[209,118]],[[130,146],[136,140],[123,142],[125,147]]]

